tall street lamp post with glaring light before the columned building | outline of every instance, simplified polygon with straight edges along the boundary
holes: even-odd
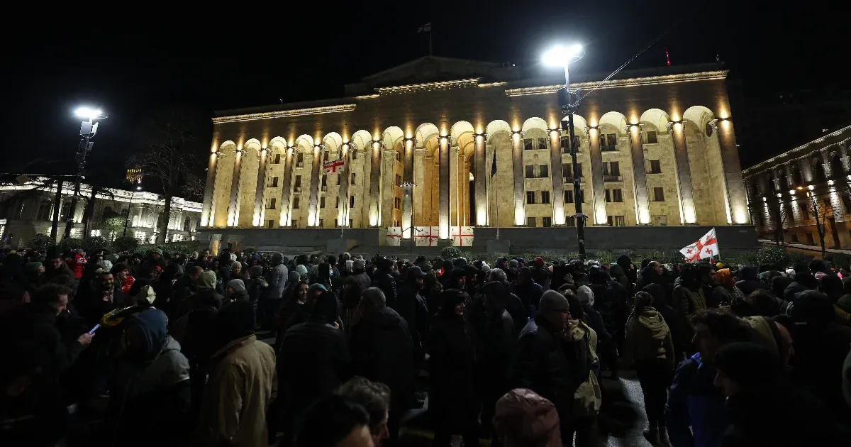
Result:
[[[585,215],[582,214],[582,200],[580,189],[579,162],[576,159],[576,143],[574,141],[574,112],[579,109],[579,101],[571,98],[570,72],[568,66],[571,62],[580,60],[585,51],[579,44],[570,47],[556,47],[544,54],[544,61],[548,65],[564,67],[564,88],[558,90],[558,101],[562,107],[562,114],[567,116],[568,135],[570,136],[570,157],[574,171],[574,207],[576,222],[576,244],[579,248],[581,260],[585,260]],[[564,123],[564,122],[563,122]],[[562,126],[564,128],[564,124]]]

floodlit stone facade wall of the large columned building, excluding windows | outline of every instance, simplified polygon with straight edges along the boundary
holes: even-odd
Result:
[[[728,119],[725,74],[700,72],[631,78],[607,85],[608,88],[598,89],[584,98],[580,113],[574,117],[574,131],[580,140],[578,161],[582,164],[586,225],[608,225],[609,221],[612,225],[625,226],[749,222],[738,156],[730,155],[731,151],[735,152],[735,140]],[[370,82],[373,81],[380,83],[375,79]],[[214,228],[252,228],[266,227],[273,221],[272,226],[304,228],[318,226],[321,221],[324,227],[334,226],[337,220],[334,216],[339,214],[334,209],[336,197],[340,196],[339,186],[329,179],[326,191],[311,189],[322,177],[322,162],[318,157],[314,161],[312,155],[328,151],[332,154],[329,159],[334,160],[340,147],[349,144],[352,150],[344,159],[350,181],[348,196],[355,201],[349,210],[352,226],[400,226],[403,215],[408,213],[413,215],[414,226],[440,225],[443,213],[451,226],[471,225],[472,221],[477,221],[477,226],[495,226],[497,214],[500,226],[524,226],[532,223],[528,218],[534,218],[534,226],[545,225],[545,218],[549,225],[570,225],[574,206],[564,203],[564,197],[573,195],[573,185],[563,182],[562,166],[571,163],[571,156],[562,151],[561,165],[553,166],[559,159],[558,152],[551,152],[553,141],[540,148],[524,150],[523,147],[528,140],[534,145],[539,139],[550,140],[551,129],[558,129],[553,134],[556,143],[558,135],[567,135],[567,129],[560,129],[564,126],[557,86],[547,85],[533,81],[488,84],[470,81],[448,87],[445,83],[424,83],[391,91],[379,89],[378,94],[313,101],[277,110],[237,111],[217,117],[211,148],[216,172],[208,185],[214,191],[209,194],[210,203],[204,204],[203,224]],[[582,89],[596,83],[577,85]],[[718,124],[719,118],[722,125]],[[656,133],[657,142],[647,142],[648,132]],[[685,145],[682,151],[688,154],[683,160],[688,161],[690,175],[681,175],[682,168],[677,165],[674,135],[677,132],[682,133]],[[601,152],[598,139],[609,134],[616,137],[616,151]],[[442,207],[438,186],[444,179],[438,152],[444,135],[449,139],[450,158],[444,171],[448,175],[448,206]],[[477,138],[485,139],[484,160],[475,155]],[[403,164],[403,143],[407,144],[408,139],[413,139],[414,150],[411,165],[414,172],[409,177]],[[260,177],[256,153],[260,150],[271,153],[293,150],[303,154],[303,166],[293,168],[293,178],[301,176],[301,191],[293,192],[293,198],[299,199],[299,208],[292,209],[288,220],[256,218],[262,213],[286,215],[280,209],[272,212],[267,206],[254,209],[254,191]],[[497,172],[492,177],[494,152]],[[357,158],[351,153],[357,153]],[[377,155],[376,159],[373,154]],[[251,179],[233,181],[237,160],[242,163],[237,175]],[[484,165],[477,167],[477,160]],[[659,160],[659,173],[648,174],[650,160]],[[619,163],[620,176],[604,178],[603,163],[610,162]],[[529,165],[533,167],[534,178],[526,177]],[[266,178],[276,174],[283,178],[281,171],[286,167],[266,166]],[[541,166],[547,170],[546,177],[540,176]],[[356,178],[354,185],[351,185],[352,174]],[[410,205],[401,204],[400,179],[406,178],[412,178],[415,183]],[[516,185],[521,187],[518,189]],[[472,203],[471,187],[483,191],[475,193]],[[663,188],[664,200],[654,200],[656,187]],[[614,201],[615,189],[620,189],[620,202]],[[606,190],[612,190],[608,202]],[[269,186],[262,191],[265,197],[279,193]],[[688,193],[683,195],[683,191]],[[535,203],[526,203],[526,192],[534,192]],[[549,194],[550,203],[541,203],[543,192]],[[325,207],[314,202],[311,208],[311,200],[321,197],[326,198]],[[268,198],[264,203],[268,203]],[[283,200],[278,200],[276,206],[284,206]],[[233,219],[233,209],[237,209],[237,220]],[[482,222],[478,221],[478,215],[483,215]],[[347,222],[337,224],[347,225]]]

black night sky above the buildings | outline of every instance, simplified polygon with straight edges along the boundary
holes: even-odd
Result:
[[[71,112],[90,104],[110,116],[90,163],[105,173],[102,181],[120,186],[123,166],[117,167],[151,111],[179,102],[207,120],[216,109],[339,96],[346,82],[427,54],[427,38],[415,32],[427,21],[435,55],[528,66],[553,42],[579,41],[586,57],[572,71],[610,72],[684,16],[628,68],[664,65],[665,45],[675,65],[718,54],[732,70],[737,121],[758,114],[743,101],[848,81],[837,62],[846,59],[847,13],[825,0],[790,11],[735,0],[314,2],[297,10],[291,3],[245,10],[228,3],[193,15],[93,14],[85,24],[69,24],[57,12],[26,32],[7,29],[0,43],[6,126],[0,171],[33,157],[56,161],[38,166],[42,172],[68,169],[79,126]],[[753,116],[737,114],[745,109]],[[768,146],[739,127],[737,136],[748,166],[818,135]]]

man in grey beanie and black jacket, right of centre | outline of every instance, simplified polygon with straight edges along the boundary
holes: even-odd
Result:
[[[564,295],[547,290],[538,312],[517,339],[511,359],[509,386],[528,388],[556,406],[563,433],[573,433],[574,393],[591,371],[587,344],[566,336],[570,304]]]

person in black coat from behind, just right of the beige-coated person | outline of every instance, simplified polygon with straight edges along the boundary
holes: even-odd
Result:
[[[289,421],[349,377],[351,358],[346,335],[335,324],[337,311],[336,298],[323,290],[312,301],[310,318],[283,335],[277,375]]]

